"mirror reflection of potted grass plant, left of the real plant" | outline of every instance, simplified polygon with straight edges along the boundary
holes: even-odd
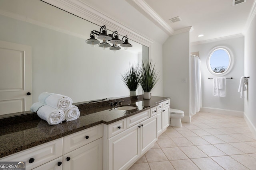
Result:
[[[136,96],[136,90],[140,85],[140,70],[139,64],[130,64],[130,67],[122,74],[122,81],[130,90],[130,96]]]

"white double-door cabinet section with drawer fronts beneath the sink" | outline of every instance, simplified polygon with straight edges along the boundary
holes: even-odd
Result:
[[[150,117],[148,109],[120,121],[127,120],[127,127],[126,130],[106,138],[104,151],[107,161],[104,162],[104,170],[127,169],[154,145],[157,141],[156,117]],[[106,134],[109,134],[111,127],[112,124],[104,126]]]

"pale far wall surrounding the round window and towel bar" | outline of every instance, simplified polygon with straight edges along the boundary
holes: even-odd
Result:
[[[234,57],[234,65],[232,70],[221,77],[233,79],[226,79],[226,97],[213,96],[213,80],[208,77],[217,77],[212,75],[206,65],[207,57],[211,49],[217,46],[225,46],[230,49]],[[221,110],[234,111],[242,114],[244,111],[244,101],[240,98],[238,93],[238,85],[241,76],[244,75],[244,37],[236,37],[232,39],[219,40],[210,43],[202,43],[198,45],[191,45],[191,52],[199,51],[201,60],[201,76],[202,76],[202,107]],[[202,110],[202,109],[201,109]]]

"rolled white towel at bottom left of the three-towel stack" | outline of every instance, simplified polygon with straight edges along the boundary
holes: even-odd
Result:
[[[37,111],[37,115],[48,122],[49,125],[57,125],[65,120],[65,113],[60,109],[44,105]]]

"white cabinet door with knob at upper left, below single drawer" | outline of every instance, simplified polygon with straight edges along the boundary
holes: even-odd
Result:
[[[102,170],[103,138],[63,156],[63,170]]]

